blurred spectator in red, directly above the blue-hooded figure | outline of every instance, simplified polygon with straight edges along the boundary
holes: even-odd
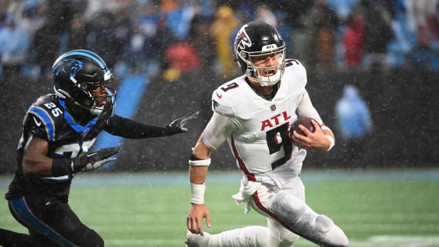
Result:
[[[358,14],[350,14],[343,35],[344,56],[348,67],[359,67],[363,61],[364,20]]]

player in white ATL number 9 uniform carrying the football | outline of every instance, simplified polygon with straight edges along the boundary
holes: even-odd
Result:
[[[329,151],[335,142],[311,104],[305,67],[298,60],[285,59],[281,36],[262,21],[241,27],[235,55],[244,75],[213,92],[213,116],[189,158],[187,246],[293,246],[299,236],[320,246],[348,246],[342,229],[305,203],[299,174],[306,150]],[[304,126],[300,128],[306,136],[289,132],[300,115],[316,119],[315,132]],[[246,213],[252,208],[267,217],[268,227],[204,232],[203,218],[211,226],[204,182],[212,152],[225,141],[244,174],[233,198],[245,204]]]

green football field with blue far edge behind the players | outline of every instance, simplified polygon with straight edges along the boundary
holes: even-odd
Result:
[[[439,170],[302,171],[307,202],[344,229],[352,247],[439,246]],[[12,176],[0,176],[3,196]],[[239,172],[208,175],[209,233],[265,225],[254,211],[244,215],[230,196]],[[187,172],[78,174],[70,203],[106,246],[185,246],[189,209]],[[0,228],[25,233],[0,204]],[[206,228],[206,226],[205,226]],[[295,246],[316,246],[300,239]]]

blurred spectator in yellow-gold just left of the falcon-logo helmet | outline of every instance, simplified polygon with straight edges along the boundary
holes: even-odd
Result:
[[[232,36],[235,36],[232,32],[237,25],[239,25],[239,20],[236,18],[233,9],[223,5],[217,10],[215,20],[209,29],[209,33],[215,39],[219,65],[217,72],[224,76],[232,75],[236,69],[230,40]]]

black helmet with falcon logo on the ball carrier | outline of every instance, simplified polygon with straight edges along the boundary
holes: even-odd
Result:
[[[279,60],[276,74],[259,75],[252,57],[276,53]],[[285,71],[285,42],[276,28],[263,21],[252,21],[241,27],[235,38],[235,56],[241,71],[261,86],[273,86]]]

